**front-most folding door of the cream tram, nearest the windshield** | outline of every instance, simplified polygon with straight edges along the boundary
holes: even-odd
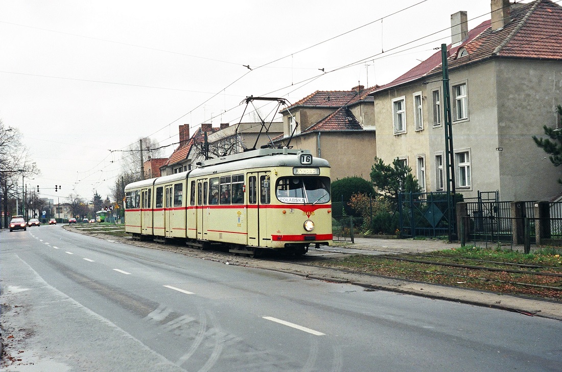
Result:
[[[271,203],[270,172],[248,173],[248,246],[268,247],[267,208]]]

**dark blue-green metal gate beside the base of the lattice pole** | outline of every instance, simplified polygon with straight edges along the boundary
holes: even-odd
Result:
[[[447,236],[449,224],[455,229],[456,218],[448,220],[448,204],[446,192],[398,193],[401,237]]]

